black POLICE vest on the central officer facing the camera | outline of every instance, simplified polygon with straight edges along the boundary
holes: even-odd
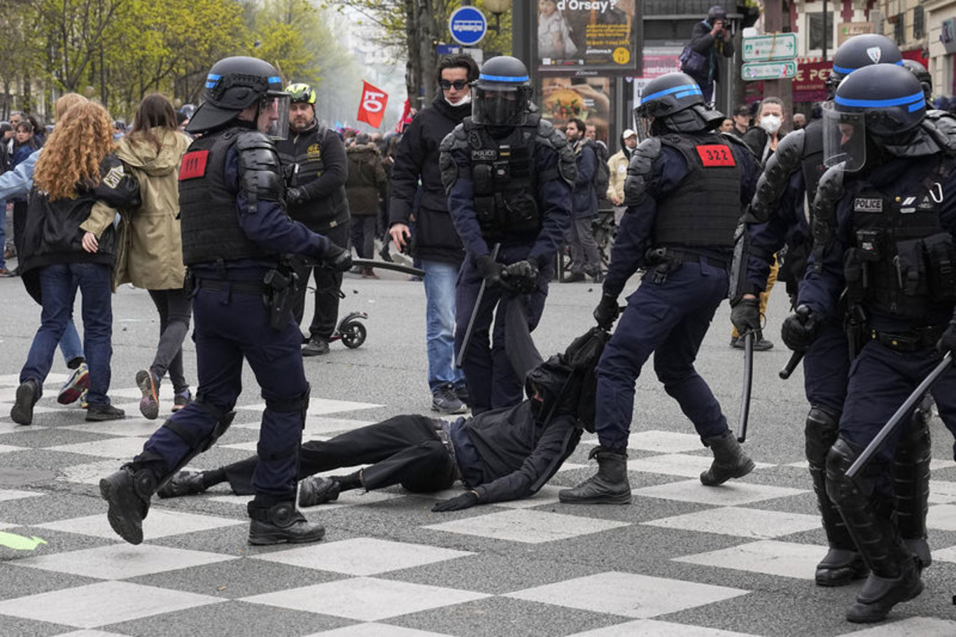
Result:
[[[471,159],[474,207],[487,241],[534,237],[541,230],[534,169],[534,138],[538,118],[515,126],[502,139],[488,128],[464,122]]]

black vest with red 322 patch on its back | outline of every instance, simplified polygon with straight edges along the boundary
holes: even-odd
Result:
[[[677,190],[658,201],[654,244],[733,246],[741,215],[741,170],[720,135],[664,135],[661,143],[684,155],[688,172]]]

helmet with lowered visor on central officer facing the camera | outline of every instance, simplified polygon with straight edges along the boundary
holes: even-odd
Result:
[[[471,121],[489,126],[520,126],[531,112],[532,83],[517,57],[498,55],[481,67],[473,84]]]

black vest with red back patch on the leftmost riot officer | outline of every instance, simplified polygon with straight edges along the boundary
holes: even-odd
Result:
[[[226,187],[226,157],[244,128],[204,135],[189,144],[180,168],[183,262],[268,256],[239,226],[236,195]]]

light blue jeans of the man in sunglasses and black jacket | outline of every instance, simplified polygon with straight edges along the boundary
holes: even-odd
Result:
[[[424,270],[425,339],[428,351],[428,388],[465,383],[455,365],[455,282],[458,266],[443,261],[422,261]]]

